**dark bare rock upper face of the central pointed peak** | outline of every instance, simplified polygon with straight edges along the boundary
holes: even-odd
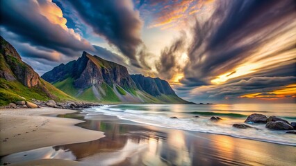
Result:
[[[42,78],[48,82],[58,82],[67,77],[74,78],[76,89],[85,89],[95,84],[117,84],[124,88],[135,88],[126,67],[106,61],[97,56],[83,52],[76,61],[60,64],[52,71],[44,73]]]

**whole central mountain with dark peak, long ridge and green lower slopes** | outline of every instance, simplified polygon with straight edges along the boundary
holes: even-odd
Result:
[[[166,81],[129,75],[125,66],[86,52],[44,73],[42,78],[74,98],[89,102],[188,103]]]

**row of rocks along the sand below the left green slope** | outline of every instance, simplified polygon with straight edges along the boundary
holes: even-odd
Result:
[[[54,100],[49,101],[40,101],[32,99],[32,102],[28,101],[16,101],[15,103],[11,102],[8,104],[8,107],[11,109],[19,109],[19,108],[29,108],[35,109],[40,107],[53,107],[57,109],[87,109],[90,107],[99,106],[99,104],[94,103],[85,103],[85,102],[55,102]]]

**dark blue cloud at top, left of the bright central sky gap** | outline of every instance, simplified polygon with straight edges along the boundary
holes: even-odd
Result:
[[[133,10],[130,0],[69,1],[94,33],[106,37],[110,44],[119,48],[131,63],[140,67],[136,59],[137,48],[142,44],[142,21]]]

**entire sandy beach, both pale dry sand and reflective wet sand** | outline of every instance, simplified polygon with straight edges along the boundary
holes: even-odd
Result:
[[[293,165],[296,162],[290,155],[295,154],[293,146],[167,129],[100,113],[89,116],[92,111],[2,110],[1,163],[138,166]],[[56,115],[59,118],[53,117]]]

